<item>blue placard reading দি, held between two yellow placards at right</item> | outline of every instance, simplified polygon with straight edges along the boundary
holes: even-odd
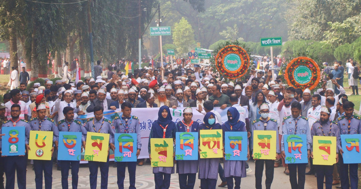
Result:
[[[286,163],[308,163],[306,135],[284,135]]]

